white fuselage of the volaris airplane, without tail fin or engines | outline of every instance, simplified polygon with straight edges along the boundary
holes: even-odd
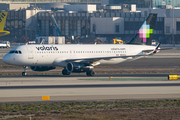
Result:
[[[72,45],[22,45],[10,50],[3,61],[18,66],[61,66],[67,65],[66,60],[88,59],[113,56],[133,56],[123,58],[101,59],[102,64],[117,64],[133,60],[143,55],[142,50],[153,50],[155,46],[119,45],[119,44],[72,44]],[[16,51],[16,53],[15,53]],[[19,53],[19,51],[21,53]]]

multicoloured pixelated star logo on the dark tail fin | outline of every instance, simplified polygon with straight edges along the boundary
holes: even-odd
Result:
[[[143,38],[143,42],[146,42],[147,38],[150,38],[150,34],[153,34],[153,29],[150,29],[150,25],[147,25],[145,21],[138,33],[139,37]]]

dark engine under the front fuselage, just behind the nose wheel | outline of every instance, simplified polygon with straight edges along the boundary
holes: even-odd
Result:
[[[30,66],[32,71],[49,71],[49,70],[53,70],[56,67],[54,66]]]

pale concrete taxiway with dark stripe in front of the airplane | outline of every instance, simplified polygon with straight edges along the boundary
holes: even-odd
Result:
[[[179,99],[180,81],[167,77],[1,77],[0,102]]]

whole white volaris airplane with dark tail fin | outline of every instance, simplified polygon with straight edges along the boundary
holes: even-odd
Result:
[[[21,45],[3,56],[10,65],[23,66],[22,76],[30,66],[33,71],[49,71],[63,67],[63,75],[86,72],[94,76],[97,65],[118,64],[159,52],[160,44],[151,46],[157,14],[149,14],[135,37],[128,44],[66,44]]]

